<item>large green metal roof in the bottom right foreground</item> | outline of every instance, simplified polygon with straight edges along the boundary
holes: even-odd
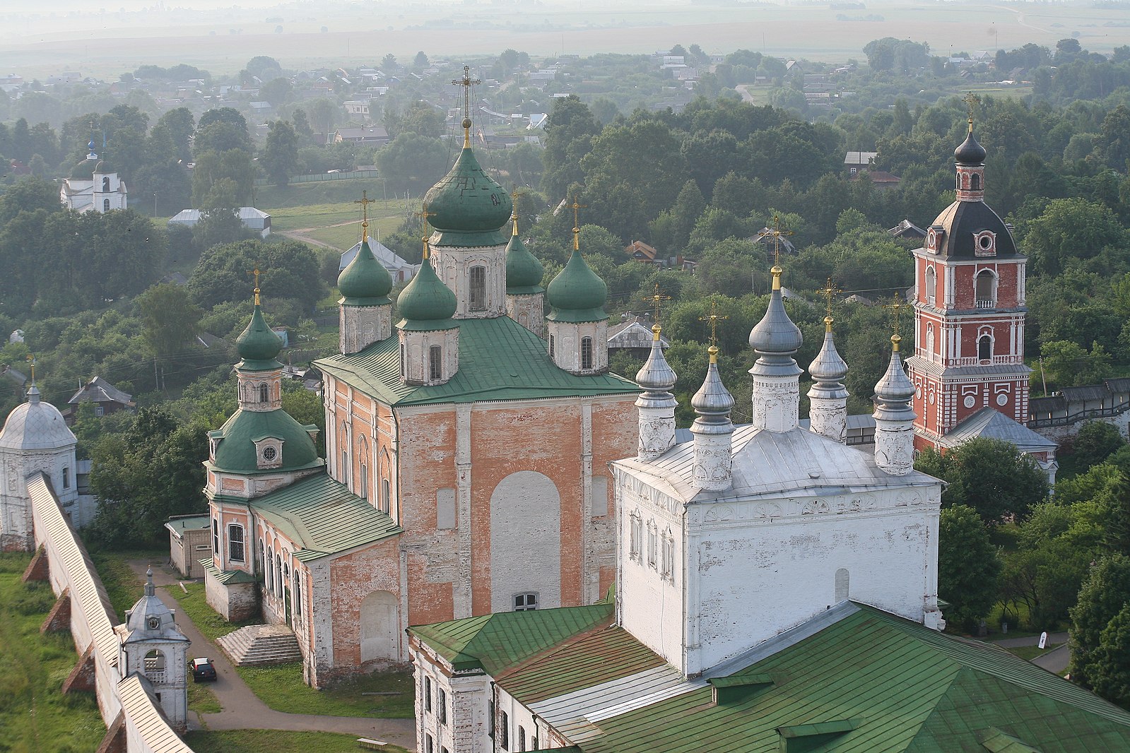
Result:
[[[852,720],[818,750],[984,753],[990,729],[1042,753],[1130,750],[1122,709],[1002,649],[867,606],[736,674],[774,685],[724,706],[705,688],[602,719],[579,747],[776,753],[781,728]]]

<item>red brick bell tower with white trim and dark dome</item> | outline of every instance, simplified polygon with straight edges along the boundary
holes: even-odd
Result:
[[[956,201],[914,252],[915,447],[940,447],[947,434],[991,408],[1018,423],[1028,412],[1024,365],[1027,259],[1010,228],[984,203],[985,150],[973,137],[954,151]]]

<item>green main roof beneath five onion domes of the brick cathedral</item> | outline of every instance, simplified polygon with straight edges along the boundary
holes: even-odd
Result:
[[[635,383],[615,374],[575,376],[557,368],[546,353],[545,340],[508,316],[459,322],[459,371],[446,384],[405,384],[400,378],[397,338],[373,343],[351,356],[320,359],[314,365],[389,405],[640,392]]]

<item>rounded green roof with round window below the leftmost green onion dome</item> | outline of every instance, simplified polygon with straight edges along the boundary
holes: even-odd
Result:
[[[242,408],[232,414],[224,426],[208,432],[220,443],[216,447],[216,461],[209,465],[217,471],[229,473],[279,473],[324,465],[318,456],[310,430],[314,426],[303,426],[289,413],[277,411],[245,411]],[[255,443],[267,437],[282,440],[282,466],[259,467]]]

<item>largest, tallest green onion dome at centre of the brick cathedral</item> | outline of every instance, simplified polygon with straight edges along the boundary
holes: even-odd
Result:
[[[451,170],[424,196],[436,230],[432,245],[501,246],[499,228],[510,219],[510,194],[492,178],[464,146]]]

